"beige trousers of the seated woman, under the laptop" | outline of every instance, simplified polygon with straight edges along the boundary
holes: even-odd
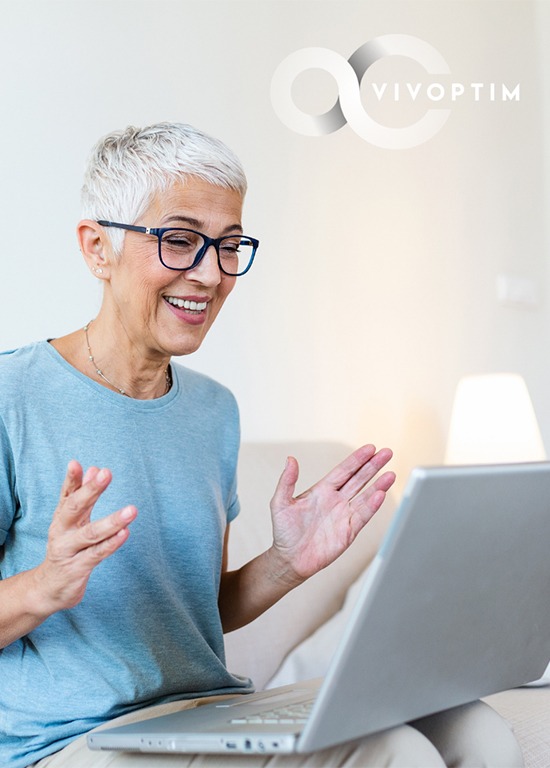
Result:
[[[205,701],[201,699],[200,703]],[[94,730],[147,720],[194,707],[197,703],[186,700],[148,707]],[[523,765],[521,749],[506,721],[488,704],[476,701],[309,754],[97,752],[88,749],[84,735],[60,752],[34,763],[33,768],[523,768]]]

